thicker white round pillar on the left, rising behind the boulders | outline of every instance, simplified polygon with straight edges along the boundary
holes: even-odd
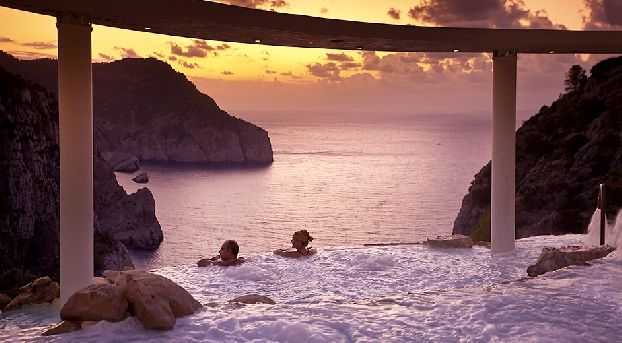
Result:
[[[58,18],[61,306],[93,277],[91,25]]]

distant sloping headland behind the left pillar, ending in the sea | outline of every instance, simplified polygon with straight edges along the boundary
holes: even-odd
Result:
[[[56,92],[56,61],[0,66]],[[153,58],[93,65],[95,145],[147,161],[270,163],[268,133],[222,111],[181,73]]]

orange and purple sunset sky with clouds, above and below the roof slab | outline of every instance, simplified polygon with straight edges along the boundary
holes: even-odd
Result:
[[[391,24],[492,28],[622,29],[616,0],[228,0],[311,16]],[[56,19],[0,7],[0,49],[56,57]],[[225,110],[490,113],[490,54],[382,53],[201,41],[103,26],[93,59],[155,57],[186,74]],[[573,64],[606,56],[519,55],[519,110],[549,104]]]

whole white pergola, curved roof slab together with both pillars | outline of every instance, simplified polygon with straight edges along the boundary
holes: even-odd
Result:
[[[493,253],[514,251],[517,54],[622,53],[622,31],[375,24],[200,0],[0,0],[0,6],[54,16],[58,21],[61,303],[93,276],[93,24],[301,48],[492,53]]]

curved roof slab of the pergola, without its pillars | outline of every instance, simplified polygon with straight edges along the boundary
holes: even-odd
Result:
[[[622,53],[622,31],[422,27],[364,23],[200,0],[0,0],[0,6],[170,36],[239,43],[403,52]]]

